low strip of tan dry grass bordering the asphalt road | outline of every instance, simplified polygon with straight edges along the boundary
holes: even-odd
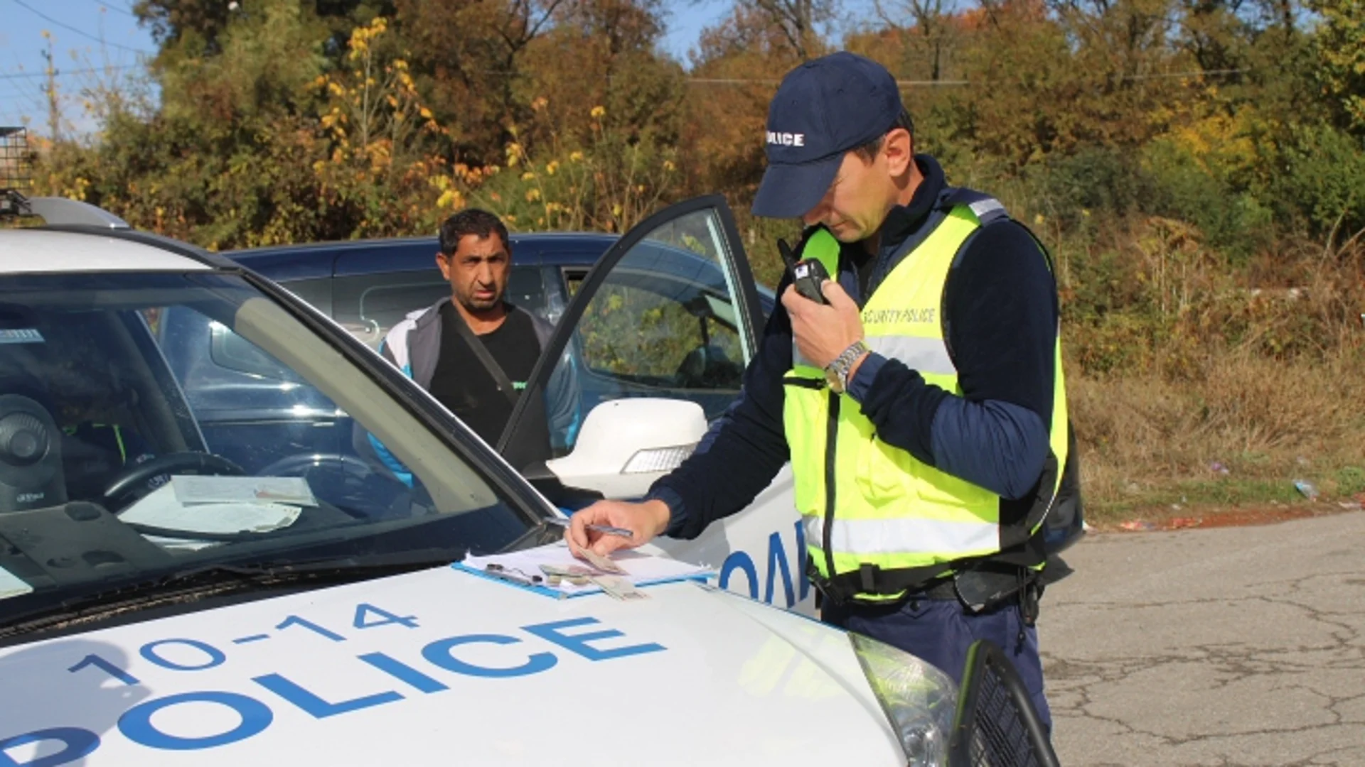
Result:
[[[1284,500],[1294,479],[1313,480],[1324,498],[1360,491],[1365,355],[1310,363],[1227,352],[1204,373],[1069,382],[1082,487],[1097,516],[1181,500]]]

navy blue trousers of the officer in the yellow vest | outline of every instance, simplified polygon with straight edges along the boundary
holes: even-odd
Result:
[[[820,618],[928,661],[958,684],[962,682],[966,650],[973,641],[987,639],[999,646],[1014,662],[1014,669],[1018,670],[1033,699],[1033,708],[1037,710],[1043,726],[1047,732],[1052,732],[1052,714],[1043,696],[1043,661],[1037,654],[1037,631],[1024,626],[1024,641],[1020,641],[1024,618],[1017,602],[975,616],[950,599],[908,599],[890,607],[837,606],[826,602]]]

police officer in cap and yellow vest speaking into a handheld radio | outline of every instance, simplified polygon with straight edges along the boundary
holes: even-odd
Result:
[[[824,303],[789,276],[744,396],[703,448],[644,502],[575,515],[569,545],[695,538],[790,460],[823,620],[954,678],[988,639],[1050,726],[1033,618],[1070,444],[1047,254],[915,154],[897,83],[868,59],[789,72],[766,141],[753,213],[801,217],[800,257],[831,276]]]

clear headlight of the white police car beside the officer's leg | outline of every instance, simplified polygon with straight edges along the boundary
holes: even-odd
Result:
[[[942,767],[957,712],[957,684],[931,663],[849,632],[882,711],[901,738],[909,767]]]

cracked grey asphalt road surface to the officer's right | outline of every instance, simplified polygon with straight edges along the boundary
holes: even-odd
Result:
[[[1065,767],[1365,766],[1365,512],[1065,558],[1039,622]]]

